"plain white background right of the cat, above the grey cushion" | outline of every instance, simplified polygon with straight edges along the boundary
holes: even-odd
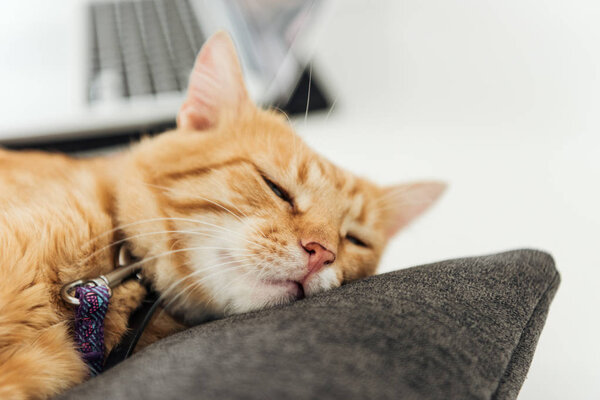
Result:
[[[380,271],[513,248],[562,283],[520,399],[600,399],[600,3],[340,1],[314,57],[337,99],[295,120],[381,183],[440,178]]]

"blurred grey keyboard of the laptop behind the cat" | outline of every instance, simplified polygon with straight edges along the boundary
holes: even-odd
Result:
[[[90,103],[185,90],[204,42],[189,0],[99,1],[89,7]]]

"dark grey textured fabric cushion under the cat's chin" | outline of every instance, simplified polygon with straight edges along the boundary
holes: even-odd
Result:
[[[189,329],[61,399],[515,398],[559,280],[534,250],[378,275]]]

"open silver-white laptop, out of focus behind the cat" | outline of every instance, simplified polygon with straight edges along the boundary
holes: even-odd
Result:
[[[285,103],[325,1],[0,2],[0,145],[172,124],[196,54],[218,29],[238,49],[251,97]]]

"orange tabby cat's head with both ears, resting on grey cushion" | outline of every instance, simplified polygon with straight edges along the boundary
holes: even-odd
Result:
[[[290,302],[371,275],[388,240],[444,190],[380,187],[336,167],[248,98],[217,33],[178,128],[134,147],[119,223],[172,311],[189,320]]]

